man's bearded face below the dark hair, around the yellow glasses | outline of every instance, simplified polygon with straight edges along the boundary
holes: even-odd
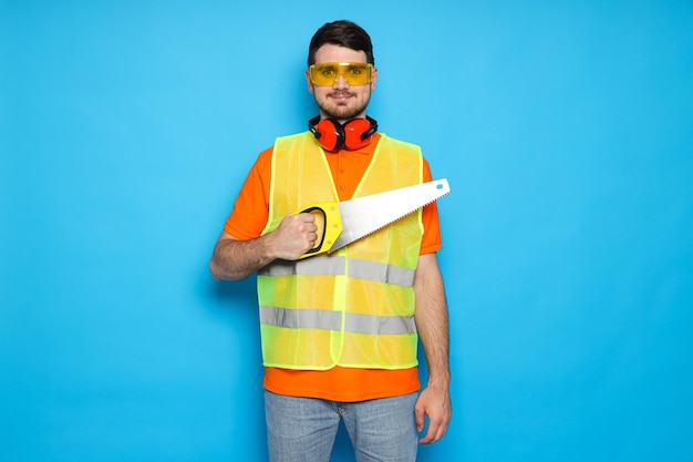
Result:
[[[333,44],[324,44],[316,51],[316,64],[328,62],[359,62],[365,63],[365,52]],[[316,97],[322,117],[331,117],[340,123],[354,117],[364,117],[365,107],[375,90],[377,70],[373,69],[370,83],[364,85],[349,85],[343,75],[340,75],[333,85],[320,86],[310,80],[310,72],[306,71],[308,90]]]

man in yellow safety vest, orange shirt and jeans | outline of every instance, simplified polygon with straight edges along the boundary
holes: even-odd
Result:
[[[260,154],[210,269],[225,280],[258,271],[270,460],[328,460],[341,419],[358,461],[414,461],[417,443],[443,438],[452,414],[435,203],[331,256],[301,259],[318,226],[294,212],[431,181],[431,173],[418,146],[376,133],[365,114],[377,69],[363,29],[324,24],[308,64],[320,114],[310,131]],[[356,317],[376,328],[352,329]],[[396,320],[394,330],[377,329],[385,319]],[[420,394],[418,338],[430,370]]]

